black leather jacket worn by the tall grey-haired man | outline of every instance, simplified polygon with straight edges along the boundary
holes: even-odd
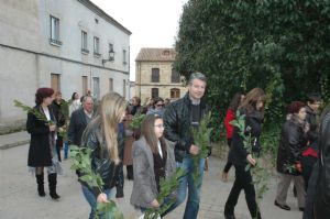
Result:
[[[208,113],[205,99],[200,100],[200,118]],[[189,94],[182,99],[169,103],[163,116],[165,124],[165,138],[175,142],[175,160],[182,162],[185,154],[194,143],[191,134],[191,100]]]

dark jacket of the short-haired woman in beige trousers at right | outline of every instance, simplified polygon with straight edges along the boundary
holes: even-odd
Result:
[[[288,167],[301,160],[301,152],[306,149],[307,134],[304,123],[299,123],[295,116],[286,120],[282,128],[277,153],[277,172],[282,174],[299,175],[294,171],[289,173]]]

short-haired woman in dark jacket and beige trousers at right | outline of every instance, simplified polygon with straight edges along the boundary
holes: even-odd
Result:
[[[288,117],[283,125],[278,153],[277,153],[277,172],[279,180],[277,185],[277,195],[275,206],[290,210],[286,204],[287,190],[290,182],[294,180],[297,189],[297,199],[299,210],[305,208],[305,187],[301,176],[301,152],[307,145],[308,123],[306,119],[305,103],[294,101],[288,107]]]

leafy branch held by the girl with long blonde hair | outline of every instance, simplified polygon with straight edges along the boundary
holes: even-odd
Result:
[[[78,147],[70,145],[72,169],[79,171],[81,176],[79,179],[85,182],[89,187],[97,187],[101,193],[105,185],[101,176],[91,168],[91,149]],[[118,209],[113,200],[109,202],[98,202],[96,218],[98,215],[105,213],[108,219],[123,219],[122,212]]]

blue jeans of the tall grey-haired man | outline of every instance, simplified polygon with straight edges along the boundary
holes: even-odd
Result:
[[[199,161],[199,173],[200,176],[198,182],[194,182],[194,161],[190,154],[187,154],[183,162],[176,163],[176,167],[184,168],[187,173],[184,177],[179,179],[179,186],[177,188],[177,199],[176,202],[162,216],[165,216],[182,202],[185,201],[187,196],[187,188],[188,188],[188,199],[185,209],[184,219],[196,219],[199,210],[199,200],[200,200],[200,189],[201,189],[201,182],[204,176],[204,166],[205,166],[205,158]],[[196,186],[197,185],[197,186]]]

